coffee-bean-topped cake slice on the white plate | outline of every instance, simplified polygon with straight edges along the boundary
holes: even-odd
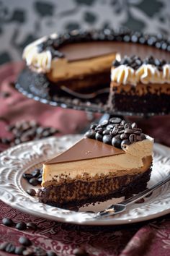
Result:
[[[43,165],[40,202],[81,206],[137,193],[151,175],[153,139],[136,124],[112,117]]]

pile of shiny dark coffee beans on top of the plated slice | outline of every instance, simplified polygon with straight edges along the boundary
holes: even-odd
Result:
[[[85,137],[122,149],[134,142],[146,140],[146,135],[135,123],[129,124],[119,117],[104,120],[101,124],[92,124]]]

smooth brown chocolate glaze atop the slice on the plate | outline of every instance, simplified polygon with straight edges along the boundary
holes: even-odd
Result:
[[[45,162],[45,164],[66,163],[70,161],[82,161],[91,158],[102,158],[110,155],[120,155],[125,151],[115,148],[112,145],[104,144],[98,140],[84,138],[77,142],[73,147],[69,148],[61,155]]]

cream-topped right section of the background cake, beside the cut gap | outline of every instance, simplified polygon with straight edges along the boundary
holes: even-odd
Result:
[[[111,69],[109,108],[133,113],[168,114],[170,111],[170,64],[150,56],[125,56]]]

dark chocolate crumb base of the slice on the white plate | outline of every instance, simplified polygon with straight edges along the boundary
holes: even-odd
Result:
[[[93,182],[76,181],[59,186],[51,185],[39,189],[37,196],[40,202],[48,205],[78,210],[81,206],[89,203],[138,194],[146,189],[150,176],[151,168],[138,175],[112,176]],[[73,194],[75,195],[74,200],[69,200]]]

